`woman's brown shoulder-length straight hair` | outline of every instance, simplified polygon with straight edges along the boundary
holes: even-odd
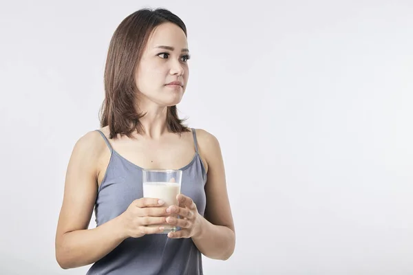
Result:
[[[105,65],[105,99],[100,108],[100,126],[109,125],[109,138],[143,132],[136,111],[135,69],[153,30],[162,23],[178,25],[187,36],[182,20],[169,10],[143,8],[130,14],[116,28],[109,44]],[[167,127],[172,133],[190,131],[178,118],[175,106],[167,108]]]

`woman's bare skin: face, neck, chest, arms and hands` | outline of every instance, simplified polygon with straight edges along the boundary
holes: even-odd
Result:
[[[169,50],[159,48],[168,46]],[[182,100],[189,78],[187,38],[172,23],[164,23],[151,35],[136,67],[138,92],[136,109],[147,113],[140,120],[145,133],[137,140],[110,140],[125,159],[143,168],[178,169],[188,164],[195,148],[192,133],[169,133],[167,107]],[[169,87],[171,81],[182,87]],[[101,129],[108,137],[108,127]],[[217,138],[196,129],[200,157],[207,170],[207,208],[202,217],[193,200],[178,195],[179,206],[162,207],[156,198],[133,201],[115,219],[87,229],[94,210],[98,186],[102,183],[110,151],[96,131],[83,135],[75,144],[67,166],[63,203],[56,230],[56,260],[62,268],[89,265],[114,250],[123,240],[162,231],[166,223],[182,230],[169,233],[171,239],[192,238],[200,252],[211,259],[226,260],[235,248],[235,228],[226,190],[224,162]],[[168,217],[179,213],[181,219]],[[148,227],[147,225],[159,225]]]

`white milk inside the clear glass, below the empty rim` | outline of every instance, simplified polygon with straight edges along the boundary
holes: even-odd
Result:
[[[180,193],[180,184],[173,182],[144,182],[143,183],[143,197],[162,199],[165,204],[162,207],[178,206],[176,196]],[[171,214],[171,217],[176,217],[176,214]],[[148,225],[149,227],[164,226],[163,233],[175,231],[176,228],[173,225]]]

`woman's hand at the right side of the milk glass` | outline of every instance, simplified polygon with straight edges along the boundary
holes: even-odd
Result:
[[[191,238],[198,236],[201,232],[202,216],[198,213],[195,203],[190,197],[179,194],[177,197],[179,206],[169,206],[167,212],[179,214],[180,219],[176,217],[167,217],[167,223],[180,227],[176,232],[169,232],[171,239]]]

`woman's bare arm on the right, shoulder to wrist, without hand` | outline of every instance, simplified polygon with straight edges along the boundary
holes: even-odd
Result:
[[[207,208],[200,219],[200,232],[192,237],[197,248],[211,259],[226,260],[235,249],[235,228],[226,190],[224,162],[215,136],[198,130],[198,144],[208,165]]]

